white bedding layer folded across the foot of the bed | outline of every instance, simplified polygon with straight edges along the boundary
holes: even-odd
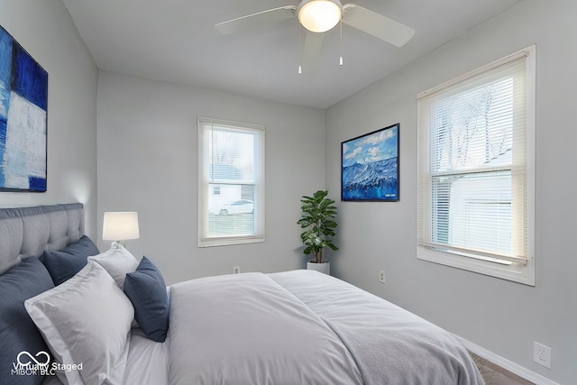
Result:
[[[484,383],[453,335],[401,307],[316,271],[269,276],[339,335],[367,385]]]

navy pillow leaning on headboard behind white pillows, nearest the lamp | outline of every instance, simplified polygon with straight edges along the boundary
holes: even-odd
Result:
[[[40,260],[50,272],[54,284],[60,285],[82,270],[87,265],[88,257],[99,253],[96,244],[86,235],[82,235],[77,243],[72,243],[65,249],[58,252],[47,250],[42,254]]]

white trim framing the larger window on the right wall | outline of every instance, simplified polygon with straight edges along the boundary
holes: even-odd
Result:
[[[526,116],[526,148],[527,148],[527,261],[517,263],[515,261],[494,260],[490,256],[486,260],[468,258],[452,252],[435,250],[427,244],[417,242],[417,259],[444,264],[458,269],[511,280],[535,286],[535,175],[536,175],[536,46],[532,45],[525,50],[508,55],[501,60],[496,60],[480,69],[475,69],[461,77],[454,78],[438,87],[434,87],[417,97],[429,95],[439,89],[451,87],[465,79],[472,78],[477,74],[494,69],[503,63],[526,57],[527,64],[527,116]],[[418,218],[417,218],[418,221]]]

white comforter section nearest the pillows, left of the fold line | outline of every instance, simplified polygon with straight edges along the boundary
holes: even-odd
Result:
[[[351,353],[298,298],[264,274],[171,287],[169,382],[360,384]]]

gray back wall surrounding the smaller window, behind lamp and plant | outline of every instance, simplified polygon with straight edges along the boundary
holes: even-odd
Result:
[[[266,126],[266,242],[197,248],[197,117]],[[98,239],[105,211],[138,211],[127,247],[167,283],[305,266],[300,197],[325,187],[325,111],[101,72]],[[98,243],[100,249],[107,244]]]

